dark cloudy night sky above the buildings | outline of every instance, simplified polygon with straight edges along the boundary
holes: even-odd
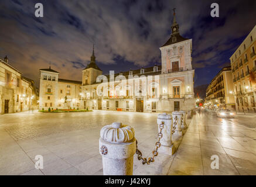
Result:
[[[35,4],[44,18],[35,17]],[[220,5],[211,18],[210,5]],[[39,83],[39,69],[81,81],[95,44],[98,66],[128,71],[161,64],[173,11],[183,37],[193,39],[195,86],[209,84],[256,24],[256,1],[0,1],[0,57]]]

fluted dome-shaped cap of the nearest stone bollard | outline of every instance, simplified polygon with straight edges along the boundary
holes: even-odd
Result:
[[[114,122],[104,126],[100,131],[100,137],[110,143],[128,143],[135,137],[134,128]]]

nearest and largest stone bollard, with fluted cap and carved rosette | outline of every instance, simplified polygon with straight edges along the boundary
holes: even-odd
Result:
[[[136,153],[134,129],[122,123],[112,123],[101,129],[99,141],[103,175],[132,175]]]

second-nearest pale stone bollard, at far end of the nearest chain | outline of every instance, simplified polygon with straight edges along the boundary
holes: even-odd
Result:
[[[173,155],[175,153],[175,146],[172,143],[172,116],[162,113],[158,115],[158,132],[160,133],[159,125],[164,122],[162,130],[163,137],[160,140],[161,147],[158,148],[160,153]]]

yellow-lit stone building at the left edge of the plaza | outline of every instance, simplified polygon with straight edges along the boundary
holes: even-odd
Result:
[[[0,114],[37,108],[34,81],[22,76],[7,57],[0,59]]]

